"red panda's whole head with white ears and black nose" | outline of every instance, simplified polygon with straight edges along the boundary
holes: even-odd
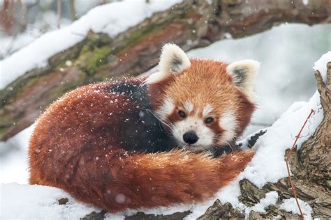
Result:
[[[162,87],[155,113],[182,148],[198,152],[232,143],[251,118],[257,68],[256,61],[190,61],[176,45],[165,45],[160,72],[147,79]]]

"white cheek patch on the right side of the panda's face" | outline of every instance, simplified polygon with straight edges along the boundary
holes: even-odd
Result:
[[[235,138],[235,130],[237,129],[237,118],[231,111],[226,111],[222,114],[219,125],[225,130],[221,136],[221,143],[224,144],[232,141]]]

